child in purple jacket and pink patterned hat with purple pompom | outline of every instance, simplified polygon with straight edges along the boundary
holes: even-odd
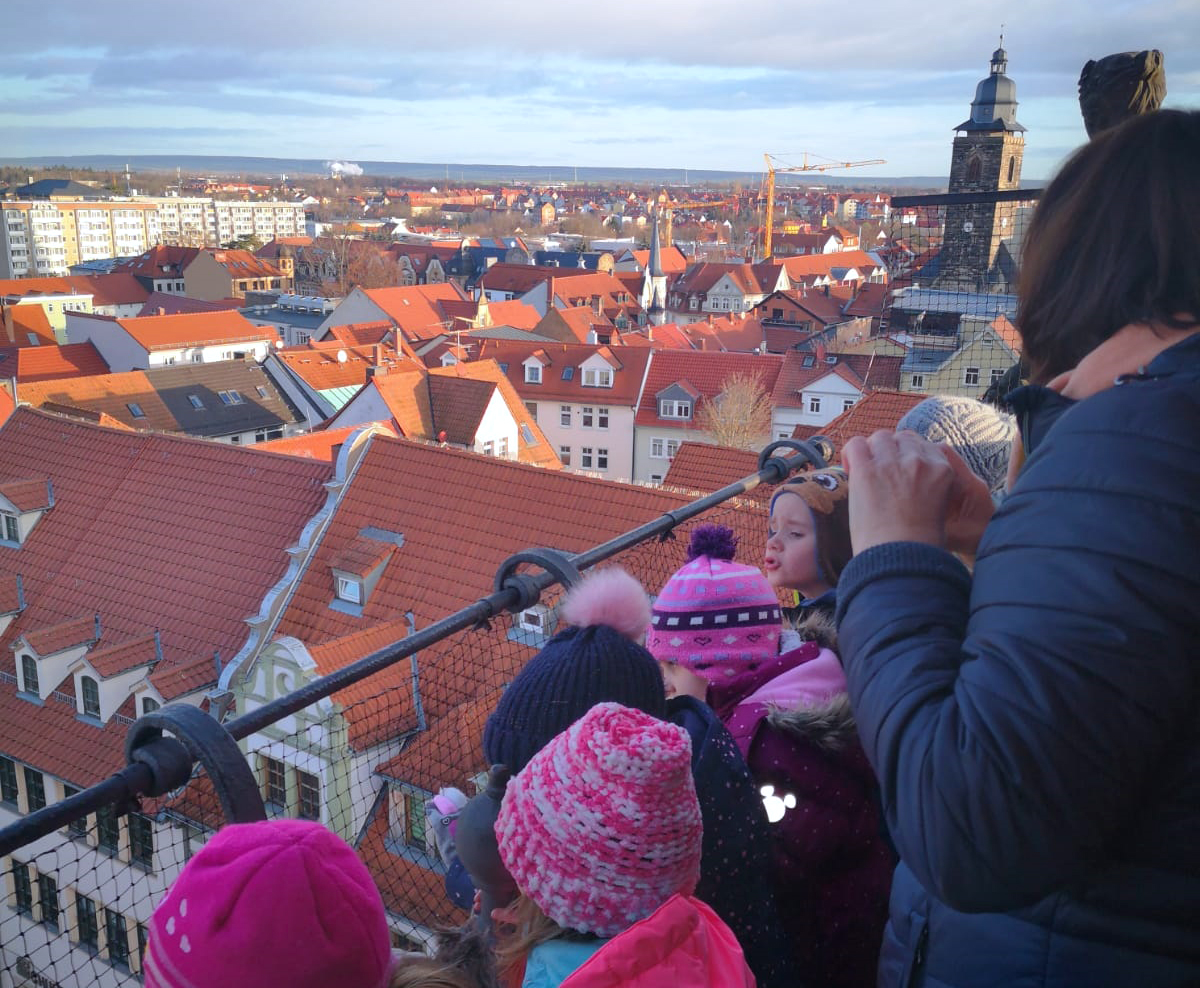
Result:
[[[808,479],[824,490],[812,479],[820,477]],[[808,559],[788,545],[776,552],[776,570],[806,575],[806,597],[829,586],[811,532],[782,531],[806,546]],[[810,986],[866,988],[875,983],[894,862],[845,676],[826,647],[828,627],[816,627],[823,607],[809,616],[806,634],[824,645],[784,630],[775,591],[757,569],[732,562],[734,547],[727,528],[695,531],[690,561],[655,601],[647,647],[668,682],[686,672],[692,685],[703,683],[760,786],[797,976]]]

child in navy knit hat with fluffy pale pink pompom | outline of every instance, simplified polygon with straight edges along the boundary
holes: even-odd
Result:
[[[760,988],[794,984],[773,893],[763,892],[769,838],[750,771],[712,709],[690,697],[665,699],[654,658],[638,643],[650,621],[646,592],[628,573],[610,567],[584,577],[564,598],[560,611],[569,627],[526,664],[487,719],[487,761],[520,772],[551,738],[602,701],[684,727],[691,737],[692,777],[704,824],[696,894],[737,935]],[[475,797],[484,798],[484,794]],[[474,816],[463,813],[463,820]],[[500,862],[488,858],[488,851],[494,854],[490,839],[494,839],[490,828],[475,833],[460,825],[457,830],[463,858],[487,875],[486,887],[497,885],[496,874],[503,874]]]

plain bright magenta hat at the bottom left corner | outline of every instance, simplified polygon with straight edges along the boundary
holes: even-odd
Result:
[[[379,891],[319,824],[232,824],[150,917],[146,988],[382,988],[391,940]]]

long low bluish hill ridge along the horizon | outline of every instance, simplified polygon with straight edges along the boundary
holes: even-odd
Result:
[[[124,170],[125,166],[139,172],[174,172],[181,168],[191,174],[209,175],[328,175],[329,163],[318,158],[296,157],[238,157],[222,155],[38,155],[36,157],[0,157],[0,164],[14,167],[96,168],[100,170]],[[761,172],[714,172],[679,168],[588,168],[572,166],[539,164],[480,164],[451,162],[436,164],[418,161],[354,161],[353,164],[367,175],[407,178],[431,184],[500,182],[514,185],[575,184],[575,182],[626,182],[662,184],[679,187],[688,185],[714,185],[743,182],[757,187]],[[846,174],[814,174],[809,181],[802,175],[780,175],[780,186],[788,185],[853,185],[860,188],[942,188],[944,175],[881,176],[856,172]]]

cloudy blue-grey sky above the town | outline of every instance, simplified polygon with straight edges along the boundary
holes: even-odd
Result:
[[[0,160],[212,154],[942,175],[1003,24],[1024,176],[1085,139],[1080,68],[1165,53],[1200,108],[1198,0],[5,0]],[[444,16],[443,16],[444,14]],[[836,174],[836,173],[835,173]]]

